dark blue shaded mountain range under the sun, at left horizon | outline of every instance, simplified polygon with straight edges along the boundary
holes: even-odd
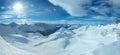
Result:
[[[40,33],[44,36],[50,35],[59,29],[55,25],[44,24],[44,23],[37,23],[32,25],[28,25],[28,24],[18,25],[16,23],[0,24],[0,28],[1,28],[0,30],[2,31],[7,31],[7,29],[8,31],[10,31],[10,32],[7,32],[6,34],[8,33],[18,34],[20,32],[24,32],[24,33]],[[5,34],[5,32],[0,34],[3,35]]]

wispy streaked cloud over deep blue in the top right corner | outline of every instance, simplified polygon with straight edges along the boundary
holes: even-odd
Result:
[[[92,2],[92,4],[94,5],[90,6],[90,10],[101,15],[120,15],[120,0],[98,0],[96,2]]]

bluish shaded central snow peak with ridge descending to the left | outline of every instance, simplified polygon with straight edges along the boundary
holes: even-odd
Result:
[[[44,43],[50,42],[50,41],[56,41],[61,38],[65,38],[67,40],[66,42],[64,42],[64,44],[67,45],[69,42],[68,39],[72,38],[72,35],[74,35],[73,31],[62,27],[58,31],[56,31],[54,34],[51,34],[50,36],[48,36],[48,38],[40,41],[40,43],[36,44],[35,46],[39,46],[41,44],[44,44]]]

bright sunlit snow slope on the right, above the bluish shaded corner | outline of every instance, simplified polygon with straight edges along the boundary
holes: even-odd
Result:
[[[97,48],[118,41],[120,25],[83,26],[73,31],[76,34],[63,55],[93,55]]]

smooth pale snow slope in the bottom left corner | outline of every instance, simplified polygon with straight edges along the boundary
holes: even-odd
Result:
[[[33,55],[32,53],[20,50],[7,43],[0,37],[0,55]]]

